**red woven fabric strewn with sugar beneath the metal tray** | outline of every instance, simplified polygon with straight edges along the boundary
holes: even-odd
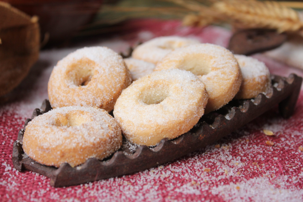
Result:
[[[81,46],[107,45],[123,51],[137,41],[160,35],[189,36],[226,46],[231,35],[218,27],[181,27],[178,21],[137,20],[128,22],[125,28],[123,35]],[[47,98],[53,65],[74,50],[42,51],[27,81],[15,90],[19,98],[0,108],[0,201],[302,201],[302,92],[295,114],[288,120],[274,108],[201,151],[132,175],[53,188],[47,177],[16,171],[11,156],[18,130]],[[263,55],[255,57],[264,61],[273,74],[303,75]],[[266,136],[263,129],[275,135]],[[268,146],[267,140],[275,145]]]

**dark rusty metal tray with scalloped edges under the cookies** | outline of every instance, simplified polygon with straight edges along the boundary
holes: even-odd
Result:
[[[165,138],[156,147],[140,146],[135,152],[125,148],[123,151],[115,152],[105,161],[91,158],[74,168],[67,163],[59,168],[45,166],[24,155],[22,149],[24,130],[21,129],[18,140],[14,143],[13,165],[18,171],[26,169],[50,177],[51,185],[54,187],[72,186],[156,167],[212,144],[278,103],[282,116],[288,118],[295,109],[302,78],[297,75],[290,75],[288,78],[273,76],[272,81],[277,87],[271,87],[266,95],[259,94],[254,101],[231,101],[223,108],[202,116],[189,132],[174,140]],[[42,111],[35,109],[33,114],[39,114],[39,111],[43,114],[50,109],[49,102],[45,100]],[[25,121],[25,125],[28,121],[30,119]]]

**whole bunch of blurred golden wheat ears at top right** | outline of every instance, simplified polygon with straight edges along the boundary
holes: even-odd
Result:
[[[205,26],[229,23],[238,28],[268,28],[278,32],[303,30],[298,12],[274,1],[257,0],[166,0],[195,14],[183,19],[184,25]],[[205,1],[211,6],[205,6]],[[203,3],[202,3],[203,2]]]

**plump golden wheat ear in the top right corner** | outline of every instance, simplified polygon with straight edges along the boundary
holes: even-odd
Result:
[[[215,2],[212,7],[241,28],[270,28],[278,32],[300,31],[303,28],[298,13],[278,2],[223,0]]]

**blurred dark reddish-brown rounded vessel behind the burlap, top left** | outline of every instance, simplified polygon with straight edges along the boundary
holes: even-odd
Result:
[[[29,15],[37,15],[41,38],[54,45],[71,38],[92,21],[103,0],[3,0]]]

